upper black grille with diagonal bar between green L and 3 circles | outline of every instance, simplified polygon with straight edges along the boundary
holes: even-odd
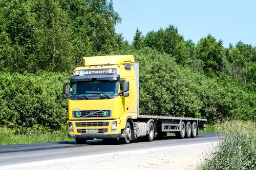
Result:
[[[73,117],[74,118],[105,118],[105,117],[111,117],[111,110],[78,110],[78,111],[73,111]]]

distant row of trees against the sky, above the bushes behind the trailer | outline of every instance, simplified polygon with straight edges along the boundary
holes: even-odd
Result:
[[[221,40],[209,34],[195,44],[190,39],[185,41],[178,29],[170,25],[165,30],[150,31],[145,37],[137,29],[132,45],[136,50],[149,47],[170,54],[176,63],[209,77],[225,73],[243,84],[256,83],[256,47],[242,41],[224,48]]]

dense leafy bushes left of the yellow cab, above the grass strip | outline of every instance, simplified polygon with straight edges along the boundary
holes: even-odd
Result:
[[[53,72],[1,74],[0,124],[18,131],[35,125],[59,129],[67,119],[62,90],[68,77]]]

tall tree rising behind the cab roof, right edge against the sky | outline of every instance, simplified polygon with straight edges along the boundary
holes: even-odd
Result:
[[[121,22],[112,1],[62,1],[74,27],[74,54],[76,64],[85,56],[105,55],[124,47],[122,36],[115,33]]]

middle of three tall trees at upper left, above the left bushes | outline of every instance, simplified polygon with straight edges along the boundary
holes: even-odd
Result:
[[[66,11],[56,0],[33,0],[37,44],[31,69],[66,71],[74,64],[73,28]]]

